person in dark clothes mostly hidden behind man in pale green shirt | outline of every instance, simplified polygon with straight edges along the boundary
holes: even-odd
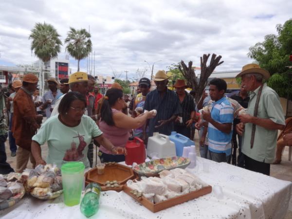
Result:
[[[240,91],[238,91],[236,94],[230,96],[231,99],[236,100],[243,108],[248,108],[248,102],[250,100],[247,91],[241,87]],[[234,119],[233,121],[233,136],[232,136],[232,142],[233,142],[233,150],[236,150],[238,145],[238,156],[237,156],[237,166],[244,168],[244,154],[241,153],[241,142],[242,142],[242,136],[238,135],[236,131],[236,125],[240,123],[239,119]],[[237,144],[237,136],[238,136],[238,144]]]

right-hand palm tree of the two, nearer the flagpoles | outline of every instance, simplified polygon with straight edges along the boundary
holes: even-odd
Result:
[[[70,31],[67,33],[67,38],[65,39],[65,43],[67,43],[66,50],[73,58],[78,60],[78,72],[80,60],[91,53],[92,43],[90,37],[90,33],[85,29],[75,30],[70,27]]]

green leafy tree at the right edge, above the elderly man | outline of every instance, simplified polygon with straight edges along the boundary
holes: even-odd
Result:
[[[276,25],[277,35],[265,36],[263,42],[256,43],[249,48],[248,56],[255,59],[261,68],[272,75],[268,86],[273,88],[280,97],[292,97],[291,73],[287,68],[292,63],[289,57],[292,54],[292,19],[284,25]]]

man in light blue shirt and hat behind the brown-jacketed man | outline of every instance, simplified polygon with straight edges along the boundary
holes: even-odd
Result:
[[[53,110],[52,106],[54,106],[56,100],[62,96],[62,92],[58,90],[60,83],[57,81],[57,79],[53,77],[47,80],[47,82],[49,91],[45,92],[43,96],[45,103],[42,105],[42,109],[45,110],[47,118],[50,118]]]

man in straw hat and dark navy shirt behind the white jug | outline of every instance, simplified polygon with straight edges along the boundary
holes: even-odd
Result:
[[[174,121],[182,113],[177,94],[167,89],[168,78],[165,71],[158,71],[154,78],[157,88],[146,96],[144,110],[157,110],[157,115],[149,120],[149,136],[153,132],[170,135],[174,130]]]

